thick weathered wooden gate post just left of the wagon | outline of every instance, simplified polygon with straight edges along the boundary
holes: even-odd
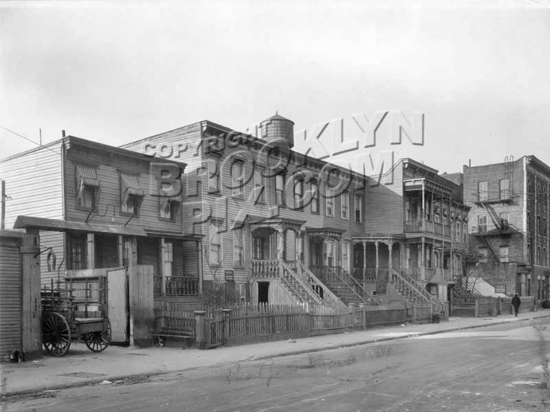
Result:
[[[21,246],[23,255],[21,331],[27,361],[42,357],[42,308],[40,297],[40,234],[27,229]]]

